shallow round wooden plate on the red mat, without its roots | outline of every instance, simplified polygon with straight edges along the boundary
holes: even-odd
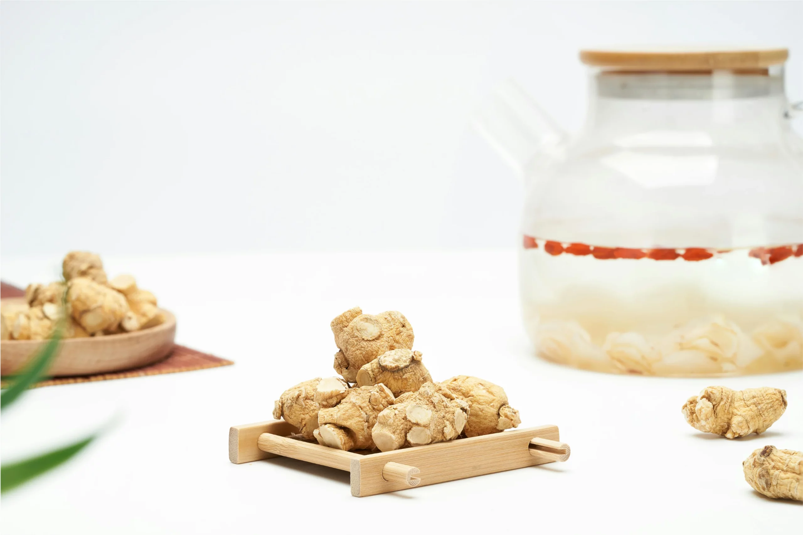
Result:
[[[2,300],[20,301],[21,298]],[[167,310],[160,310],[165,314],[165,322],[150,329],[63,340],[59,355],[56,355],[47,375],[96,375],[148,366],[164,359],[173,349],[176,317]],[[45,342],[46,340],[0,342],[0,375],[14,375]]]

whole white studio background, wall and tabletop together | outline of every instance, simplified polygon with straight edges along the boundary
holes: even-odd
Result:
[[[764,43],[792,51],[801,2],[3,2],[2,278],[103,253],[177,315],[177,342],[231,367],[29,392],[4,461],[83,436],[87,452],[2,498],[6,533],[791,533],[741,461],[803,449],[801,373],[717,379],[789,393],[767,433],[696,432],[711,379],[600,375],[532,357],[520,326],[520,184],[469,127],[515,76],[570,131],[583,46]],[[499,249],[444,252],[438,249]],[[415,252],[414,249],[419,249]],[[430,249],[420,252],[420,249]],[[275,251],[285,251],[276,253]],[[323,251],[323,253],[321,253]],[[228,428],[332,374],[329,321],[402,310],[436,379],[503,384],[548,464],[368,498],[293,460],[234,465]]]

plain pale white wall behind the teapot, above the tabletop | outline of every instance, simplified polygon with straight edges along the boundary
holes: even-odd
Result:
[[[569,131],[586,46],[789,47],[801,2],[3,2],[2,254],[499,248],[471,131],[520,80]]]

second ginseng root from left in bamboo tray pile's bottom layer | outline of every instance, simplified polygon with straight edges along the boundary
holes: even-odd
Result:
[[[334,407],[321,407],[315,438],[319,444],[344,451],[374,449],[371,429],[393,401],[393,392],[384,384],[351,388]]]

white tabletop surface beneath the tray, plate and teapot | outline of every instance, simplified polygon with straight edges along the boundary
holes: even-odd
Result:
[[[112,422],[69,464],[2,498],[3,533],[793,533],[801,505],[744,481],[765,444],[803,449],[803,374],[737,379],[601,375],[532,356],[516,258],[502,253],[108,257],[178,318],[177,342],[234,366],[39,388],[2,414],[2,459]],[[53,280],[58,258],[2,260],[2,278]],[[435,379],[502,385],[524,426],[557,424],[568,462],[356,498],[349,474],[296,460],[231,464],[231,425],[271,419],[304,379],[334,375],[331,319],[351,306],[401,310]],[[762,436],[691,428],[680,407],[709,384],[785,388],[789,408]],[[318,526],[318,527],[316,527]],[[386,527],[385,527],[386,526]],[[528,529],[528,531],[529,531]],[[314,530],[314,531],[313,531]],[[296,531],[297,533],[297,531]]]

